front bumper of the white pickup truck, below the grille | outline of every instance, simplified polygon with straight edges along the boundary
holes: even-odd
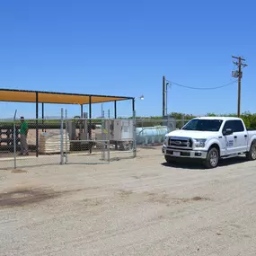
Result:
[[[182,150],[178,148],[170,148],[168,146],[162,147],[162,153],[170,155],[177,158],[196,158],[196,159],[206,159],[207,151],[202,150]]]

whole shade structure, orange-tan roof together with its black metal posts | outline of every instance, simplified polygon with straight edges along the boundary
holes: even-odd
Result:
[[[97,94],[79,94],[79,93],[57,93],[29,90],[14,90],[0,88],[0,102],[23,102],[36,103],[36,156],[39,156],[39,103],[42,107],[42,123],[44,120],[44,104],[79,104],[81,108],[81,118],[83,118],[84,104],[89,104],[89,122],[92,124],[92,104],[103,102],[114,102],[114,118],[117,119],[117,102],[132,101],[132,112],[135,114],[135,97],[110,96]],[[92,137],[91,129],[89,137]]]

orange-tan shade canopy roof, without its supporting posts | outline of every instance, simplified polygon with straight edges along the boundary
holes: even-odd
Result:
[[[90,101],[91,99],[91,101]],[[40,91],[10,90],[0,88],[0,102],[40,102],[55,104],[89,104],[132,100],[133,97]]]

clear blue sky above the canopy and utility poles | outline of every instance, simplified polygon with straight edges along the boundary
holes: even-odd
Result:
[[[232,55],[246,58],[242,111],[256,112],[255,1],[1,1],[0,87],[140,96],[137,115],[162,114],[162,76],[188,86],[233,79]],[[168,110],[236,111],[237,84],[213,91],[172,85]],[[47,105],[46,115],[80,113]],[[113,104],[104,104],[104,110]],[[120,102],[119,115],[131,114]],[[0,102],[0,118],[34,117],[34,104]],[[84,108],[86,110],[86,108]],[[93,106],[93,116],[101,105]]]

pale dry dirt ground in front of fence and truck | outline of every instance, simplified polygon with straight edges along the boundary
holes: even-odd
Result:
[[[0,255],[256,255],[256,162],[0,171]]]

